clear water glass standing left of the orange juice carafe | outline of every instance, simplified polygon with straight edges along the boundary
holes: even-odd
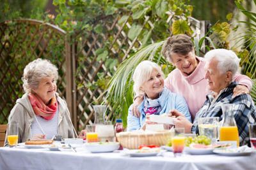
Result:
[[[198,118],[199,134],[207,136],[212,143],[216,143],[218,138],[219,117],[200,117]]]

